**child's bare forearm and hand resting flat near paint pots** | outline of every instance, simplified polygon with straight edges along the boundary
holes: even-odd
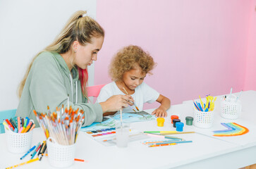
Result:
[[[159,108],[154,110],[152,112],[152,115],[155,114],[156,117],[165,118],[167,116],[167,112],[166,111],[171,106],[171,101],[166,96],[163,96],[163,95],[160,94],[158,99],[157,99],[157,102],[159,102],[159,104],[161,104],[161,106],[159,106]]]

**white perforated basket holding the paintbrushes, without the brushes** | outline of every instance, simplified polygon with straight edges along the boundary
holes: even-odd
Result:
[[[61,145],[52,137],[47,139],[49,163],[56,168],[66,168],[74,163],[75,144]]]

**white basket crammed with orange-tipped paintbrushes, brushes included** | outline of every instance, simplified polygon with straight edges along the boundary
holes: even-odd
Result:
[[[48,107],[49,110],[49,107]],[[75,142],[78,131],[83,124],[84,111],[79,109],[56,108],[56,112],[38,113],[34,111],[39,125],[47,137],[49,163],[58,168],[66,168],[73,164]]]

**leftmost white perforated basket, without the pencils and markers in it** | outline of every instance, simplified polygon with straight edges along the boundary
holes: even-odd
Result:
[[[6,130],[6,128],[5,128]],[[6,141],[8,151],[14,154],[22,154],[31,148],[33,130],[25,133],[6,130]]]

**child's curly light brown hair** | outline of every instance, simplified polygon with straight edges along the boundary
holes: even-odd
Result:
[[[142,73],[150,73],[150,70],[154,68],[154,60],[150,54],[143,51],[140,46],[126,46],[123,47],[118,53],[112,58],[109,75],[112,80],[118,81],[123,79],[123,74],[133,69],[133,65],[138,63],[142,68]],[[152,74],[152,73],[150,73]]]

